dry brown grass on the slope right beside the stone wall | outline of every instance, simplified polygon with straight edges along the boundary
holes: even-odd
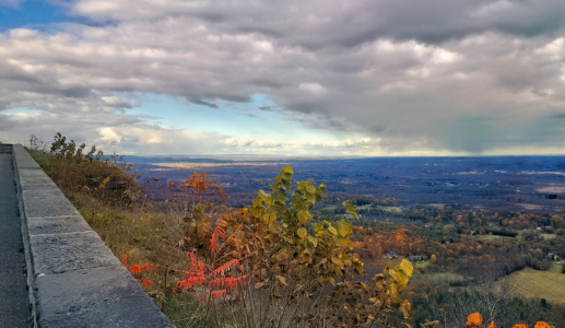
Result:
[[[178,225],[181,224],[181,209],[172,203],[153,203],[145,201],[143,192],[137,194],[141,186],[127,171],[118,169],[115,164],[70,163],[54,155],[38,151],[30,151],[35,161],[47,175],[59,186],[63,195],[79,210],[91,227],[101,236],[114,255],[120,258],[127,255],[128,263],[160,263],[168,268],[184,269],[185,257],[178,251]],[[99,189],[96,186],[84,188],[89,180],[95,178],[103,181],[127,181],[127,186],[118,190]],[[63,183],[60,183],[63,180]],[[83,188],[76,188],[82,186]],[[99,185],[98,185],[99,187]],[[125,190],[133,190],[137,200],[125,195]],[[131,194],[131,192],[130,192]],[[153,295],[153,300],[167,300],[166,305],[156,302],[165,315],[183,327],[181,318],[187,315],[187,307],[180,306],[187,297],[177,300],[165,295],[160,290],[164,285],[162,278],[153,286],[144,289]],[[191,300],[193,301],[193,300]],[[161,303],[161,304],[160,304]],[[193,306],[193,302],[189,302]]]

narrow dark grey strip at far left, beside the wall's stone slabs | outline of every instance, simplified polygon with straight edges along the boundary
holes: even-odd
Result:
[[[0,144],[0,327],[27,328],[32,314],[11,150]]]

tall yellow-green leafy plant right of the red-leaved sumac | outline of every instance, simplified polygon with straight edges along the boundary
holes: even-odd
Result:
[[[293,188],[293,169],[284,166],[270,186],[259,190],[250,210],[266,254],[257,268],[255,286],[263,291],[259,327],[387,327],[400,323],[388,313],[400,312],[410,325],[410,303],[400,297],[412,265],[403,260],[385,268],[370,283],[353,281],[366,276],[353,253],[353,226],[346,218],[332,224],[314,222],[313,207],[326,196],[326,186],[311,179]],[[355,207],[343,203],[348,214],[358,219]]]

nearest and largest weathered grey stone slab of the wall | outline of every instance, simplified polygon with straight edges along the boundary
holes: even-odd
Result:
[[[121,265],[35,280],[40,328],[174,327]]]

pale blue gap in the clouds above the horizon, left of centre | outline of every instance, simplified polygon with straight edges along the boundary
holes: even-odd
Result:
[[[125,94],[117,96],[137,103]],[[305,140],[337,140],[336,133],[308,129],[302,124],[284,119],[285,110],[262,94],[251,96],[249,103],[235,103],[222,99],[207,99],[217,108],[183,102],[181,98],[164,94],[144,93],[141,104],[126,109],[133,115],[157,116],[156,120],[166,126],[193,131],[215,131],[221,134],[243,137],[248,134],[257,140],[298,142]],[[262,109],[261,109],[262,108]]]

